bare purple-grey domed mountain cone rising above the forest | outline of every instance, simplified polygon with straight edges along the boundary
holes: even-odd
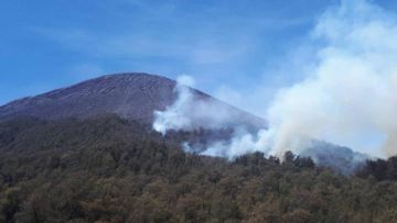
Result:
[[[67,88],[23,98],[0,107],[0,120],[34,116],[45,120],[89,118],[115,113],[151,124],[153,112],[164,110],[176,98],[176,81],[142,73],[107,75]],[[211,100],[230,111],[236,124],[262,127],[265,121],[213,97],[192,89],[198,100]]]

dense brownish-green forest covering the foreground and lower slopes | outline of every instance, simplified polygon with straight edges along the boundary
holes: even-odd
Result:
[[[343,176],[292,153],[179,145],[114,115],[0,123],[0,222],[397,221],[397,158]]]

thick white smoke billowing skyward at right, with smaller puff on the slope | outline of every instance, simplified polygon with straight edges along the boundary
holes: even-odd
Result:
[[[373,156],[396,155],[396,40],[395,14],[365,0],[341,1],[322,14],[310,33],[313,64],[302,66],[311,71],[280,89],[264,114],[269,129],[256,134],[236,130],[232,141],[216,142],[203,154],[229,158],[255,150],[299,154],[310,147],[311,138],[319,138]],[[189,129],[196,119],[197,114],[185,115],[191,110],[185,108],[195,103],[185,96],[189,91],[178,89],[175,103],[155,113],[153,126],[162,133]],[[211,110],[204,111],[208,115],[201,119],[216,120]]]

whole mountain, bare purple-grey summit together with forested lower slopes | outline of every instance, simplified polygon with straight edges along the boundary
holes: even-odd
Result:
[[[229,130],[151,130],[174,87],[111,75],[1,107],[0,222],[397,222],[397,157],[343,176],[363,157],[320,141],[305,152],[318,164],[291,152],[283,160],[184,153],[181,142]],[[264,123],[192,91],[229,109],[236,124]]]

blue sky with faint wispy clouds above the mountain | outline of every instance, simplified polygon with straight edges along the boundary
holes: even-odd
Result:
[[[0,5],[0,104],[120,71],[249,91],[336,0],[12,0]],[[377,1],[397,11],[393,1]],[[277,75],[276,75],[277,74]],[[288,76],[288,75],[287,75]],[[282,81],[281,81],[281,80]],[[265,80],[265,81],[264,81]],[[267,81],[268,80],[268,81]],[[281,81],[281,83],[280,83]]]

